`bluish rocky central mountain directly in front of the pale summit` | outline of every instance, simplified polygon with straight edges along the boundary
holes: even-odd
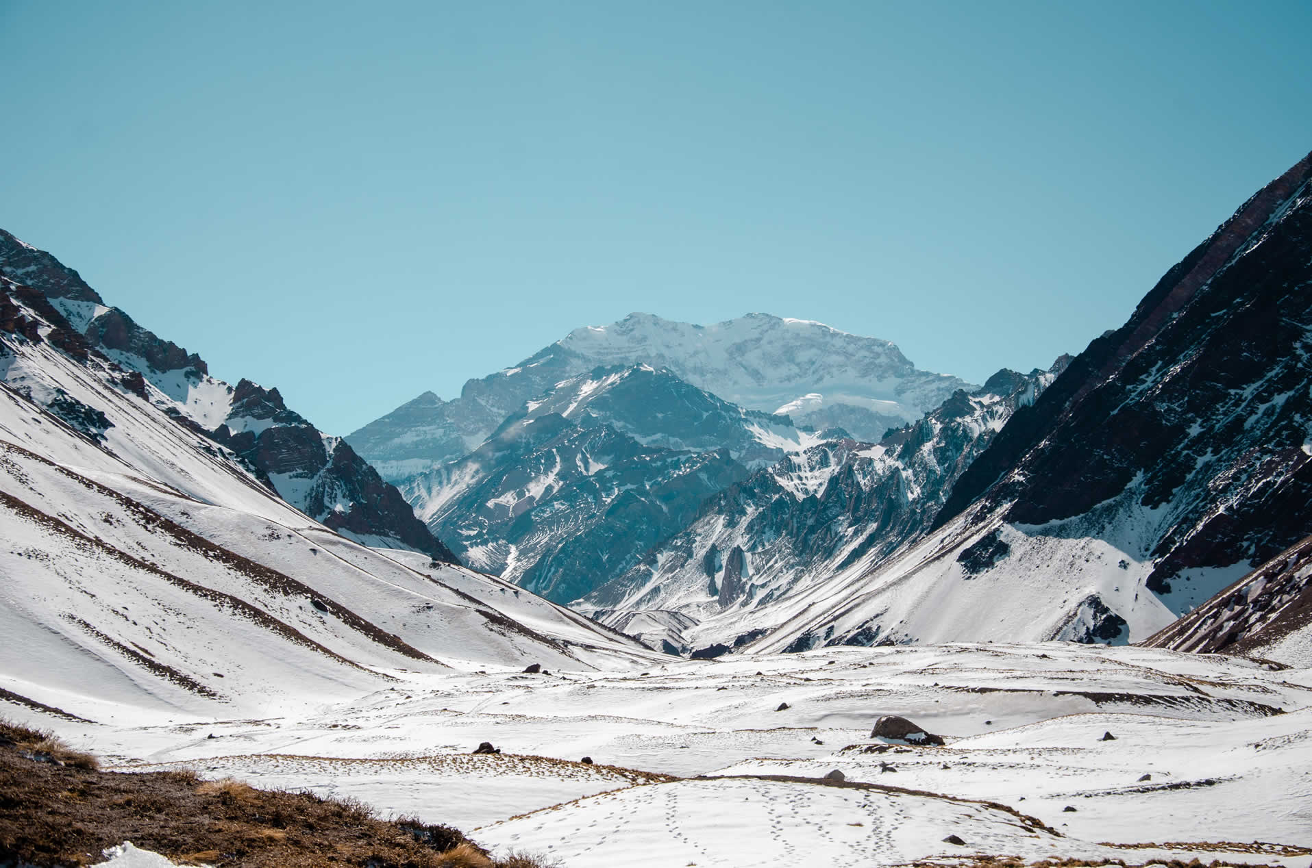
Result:
[[[594,368],[401,489],[471,565],[564,602],[621,576],[749,468],[819,441],[664,368]]]

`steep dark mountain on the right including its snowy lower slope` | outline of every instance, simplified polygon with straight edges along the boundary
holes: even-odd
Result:
[[[934,528],[754,648],[1140,641],[1312,526],[1312,155],[1176,265],[962,475]]]

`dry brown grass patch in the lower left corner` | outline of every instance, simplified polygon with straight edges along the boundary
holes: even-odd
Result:
[[[495,861],[458,829],[379,819],[356,799],[201,780],[193,771],[104,772],[50,733],[0,721],[0,864],[88,865],[131,840],[222,868],[548,868]]]

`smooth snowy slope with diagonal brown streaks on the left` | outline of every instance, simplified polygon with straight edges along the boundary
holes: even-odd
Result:
[[[526,591],[428,553],[366,548],[297,511],[143,399],[138,372],[80,341],[41,292],[0,286],[10,703],[100,703],[127,720],[264,716],[384,690],[398,669],[649,657]]]

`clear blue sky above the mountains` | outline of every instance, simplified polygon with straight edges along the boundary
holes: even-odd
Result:
[[[0,0],[0,226],[345,434],[749,311],[981,382],[1312,148],[1312,4]]]

